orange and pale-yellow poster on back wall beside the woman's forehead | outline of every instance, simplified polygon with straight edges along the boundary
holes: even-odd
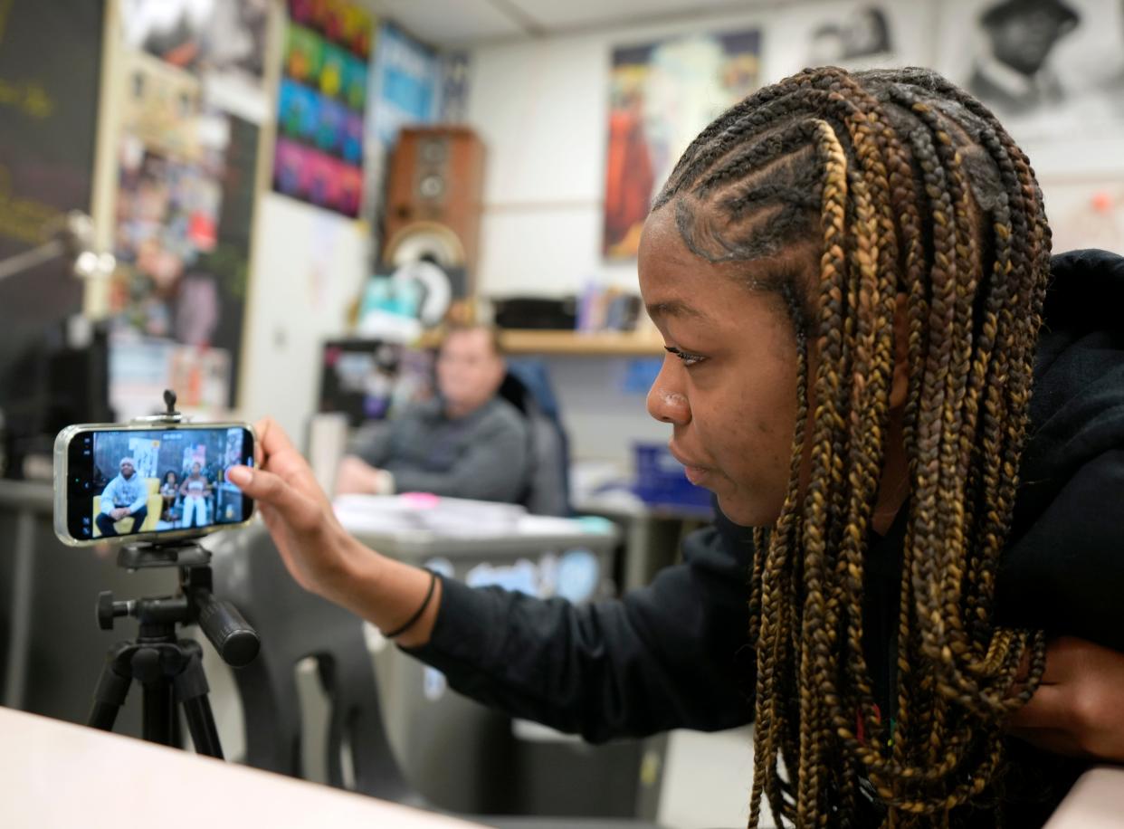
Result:
[[[631,258],[656,190],[691,139],[760,84],[758,29],[613,52],[602,253]]]

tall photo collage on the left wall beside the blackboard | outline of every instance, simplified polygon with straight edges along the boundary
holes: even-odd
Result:
[[[235,402],[257,139],[268,112],[269,7],[120,0],[119,268],[109,299],[118,326],[110,348],[149,349],[163,382],[178,375],[172,388],[181,404],[199,412]],[[137,364],[111,353],[110,400],[134,412],[128,390],[139,377],[112,366]],[[184,372],[188,364],[194,372]]]

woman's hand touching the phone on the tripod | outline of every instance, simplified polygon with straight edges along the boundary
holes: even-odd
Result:
[[[373,557],[336,519],[308,463],[280,426],[255,425],[257,468],[232,466],[229,481],[257,501],[285,567],[305,590],[347,604],[354,568]]]

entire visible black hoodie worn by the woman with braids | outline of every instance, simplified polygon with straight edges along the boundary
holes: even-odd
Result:
[[[997,612],[1124,650],[1124,259],[1063,254],[1053,275]],[[719,516],[619,601],[444,580],[433,636],[409,653],[469,696],[595,743],[744,725],[751,563],[749,531]]]

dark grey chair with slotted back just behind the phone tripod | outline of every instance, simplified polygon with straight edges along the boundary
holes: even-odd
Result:
[[[234,672],[245,717],[245,763],[301,776],[305,746],[294,668],[311,656],[330,709],[328,783],[347,787],[346,750],[354,791],[439,811],[410,785],[395,758],[362,620],[298,586],[262,525],[223,534],[210,546],[216,595],[234,602],[262,640],[257,658]],[[633,819],[463,817],[498,829],[659,829]]]

